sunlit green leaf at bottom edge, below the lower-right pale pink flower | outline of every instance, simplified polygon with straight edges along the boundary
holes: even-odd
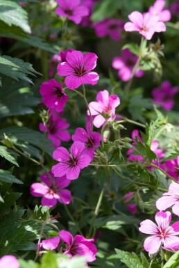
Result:
[[[134,252],[129,253],[121,251],[120,249],[115,249],[115,251],[121,262],[125,263],[128,268],[146,268],[146,266],[142,265],[139,257]]]

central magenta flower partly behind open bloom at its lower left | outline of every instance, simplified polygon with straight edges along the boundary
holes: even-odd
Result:
[[[95,148],[99,147],[101,141],[101,134],[98,132],[92,132],[91,124],[87,123],[86,129],[78,127],[74,135],[72,135],[73,141],[80,141],[85,144],[83,152],[89,155],[91,159],[94,159]]]

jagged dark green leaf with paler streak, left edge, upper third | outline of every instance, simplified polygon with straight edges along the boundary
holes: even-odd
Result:
[[[27,77],[27,75],[31,74],[35,76],[35,74],[40,74],[33,69],[31,63],[25,63],[22,59],[11,58],[10,56],[0,57],[0,73],[5,74],[8,77],[12,77],[12,79],[17,81],[22,79],[32,84],[33,82]]]

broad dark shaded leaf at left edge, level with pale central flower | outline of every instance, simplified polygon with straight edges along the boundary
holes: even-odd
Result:
[[[33,113],[31,107],[40,102],[29,88],[11,88],[7,85],[0,90],[0,118]],[[13,100],[13,101],[12,101]]]

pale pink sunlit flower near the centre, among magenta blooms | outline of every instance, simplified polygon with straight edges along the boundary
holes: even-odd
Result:
[[[109,95],[108,90],[103,90],[96,95],[96,100],[97,102],[89,103],[89,109],[92,116],[95,116],[94,126],[101,127],[106,120],[112,121],[114,119],[115,109],[119,106],[120,99],[117,95]],[[89,111],[87,111],[87,115],[89,116]]]

